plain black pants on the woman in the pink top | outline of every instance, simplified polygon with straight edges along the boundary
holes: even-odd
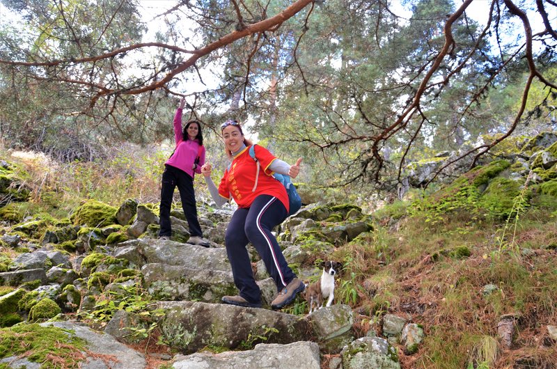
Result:
[[[172,198],[174,196],[174,189],[178,186],[180,191],[180,200],[182,201],[182,209],[187,219],[189,226],[189,233],[193,236],[203,237],[201,226],[197,220],[196,208],[196,194],[194,192],[194,179],[189,176],[185,171],[166,165],[162,173],[162,188],[161,188],[161,205],[160,205],[160,223],[161,229],[159,236],[170,237],[172,234],[172,227],[170,223],[170,209],[172,205]]]

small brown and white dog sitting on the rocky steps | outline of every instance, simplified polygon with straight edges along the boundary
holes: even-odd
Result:
[[[335,274],[343,267],[336,261],[324,261],[319,266],[323,268],[320,280],[310,285],[306,284],[306,301],[310,314],[314,311],[314,305],[315,311],[323,307],[324,299],[328,299],[326,306],[331,306],[335,297]]]

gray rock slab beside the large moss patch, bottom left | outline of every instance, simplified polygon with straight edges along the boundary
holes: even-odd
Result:
[[[109,334],[98,333],[72,322],[47,322],[43,327],[52,325],[61,329],[68,329],[73,333],[61,331],[61,334],[74,335],[86,341],[86,361],[80,363],[81,369],[141,369],[147,368],[147,361],[143,354],[119,343]],[[102,359],[101,359],[102,356]],[[114,359],[113,359],[114,358]]]

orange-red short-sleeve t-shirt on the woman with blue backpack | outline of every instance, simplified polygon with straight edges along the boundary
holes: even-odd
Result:
[[[259,161],[259,177],[256,191],[251,191],[256,182],[257,163],[249,156],[249,147],[238,154],[224,172],[219,185],[219,194],[226,199],[230,195],[239,207],[250,207],[253,200],[259,195],[270,195],[278,198],[288,212],[290,204],[288,194],[281,182],[271,177],[274,173],[269,171],[269,165],[276,159],[269,150],[256,145],[256,158]]]

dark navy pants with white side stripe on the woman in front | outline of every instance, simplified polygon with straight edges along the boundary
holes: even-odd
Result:
[[[246,249],[248,242],[251,242],[265,262],[267,272],[274,279],[278,291],[296,278],[271,233],[274,226],[284,221],[286,216],[286,208],[278,198],[260,195],[251,207],[238,208],[226,228],[226,253],[232,265],[234,283],[240,290],[240,296],[251,303],[261,301],[261,291],[251,270],[251,260]]]

